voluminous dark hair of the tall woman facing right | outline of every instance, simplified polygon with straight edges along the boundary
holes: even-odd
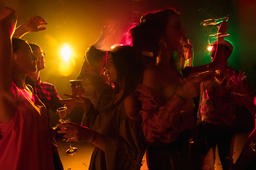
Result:
[[[172,15],[179,15],[179,12],[174,8],[166,8],[145,13],[140,18],[140,23],[129,30],[128,35],[132,39],[132,45],[140,51],[145,67],[149,62],[156,61],[161,43],[164,42],[166,26]],[[145,57],[144,52],[151,52],[152,56]]]

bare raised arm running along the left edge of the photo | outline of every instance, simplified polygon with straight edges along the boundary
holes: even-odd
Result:
[[[3,8],[0,13],[0,123],[8,123],[16,111],[15,93],[12,86],[13,57],[11,45],[16,23],[16,12],[11,8]]]

